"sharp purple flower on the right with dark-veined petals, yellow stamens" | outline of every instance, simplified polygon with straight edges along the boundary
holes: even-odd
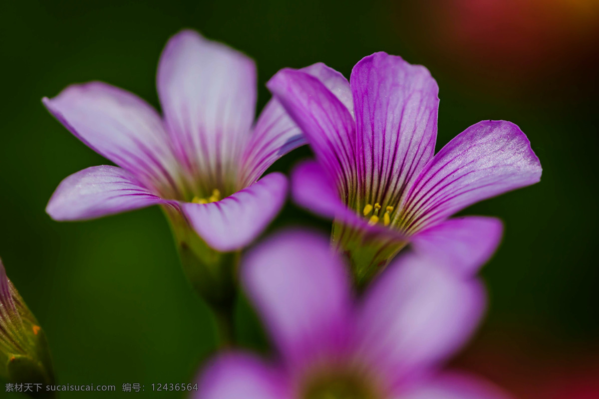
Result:
[[[438,87],[426,68],[375,53],[354,66],[350,82],[329,72],[329,87],[294,69],[282,69],[267,86],[316,155],[292,173],[292,195],[334,218],[333,240],[358,284],[409,242],[436,248],[455,267],[480,264],[501,223],[447,218],[539,181],[539,159],[524,133],[510,122],[482,121],[434,155]]]

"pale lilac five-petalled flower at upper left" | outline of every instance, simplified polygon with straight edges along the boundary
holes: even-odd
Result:
[[[287,183],[262,173],[304,144],[271,100],[254,124],[252,59],[193,31],[168,41],[158,66],[162,117],[132,93],[101,82],[67,87],[44,105],[117,166],[64,179],[47,212],[86,220],[160,204],[217,251],[251,242],[279,212]],[[176,226],[177,229],[177,226]]]

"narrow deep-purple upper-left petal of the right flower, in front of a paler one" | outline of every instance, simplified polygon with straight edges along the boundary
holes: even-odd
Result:
[[[267,83],[304,132],[343,196],[357,192],[355,123],[347,107],[316,77],[282,69]]]

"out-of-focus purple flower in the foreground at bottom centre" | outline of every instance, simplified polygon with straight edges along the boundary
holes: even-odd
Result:
[[[431,260],[402,255],[356,300],[326,237],[268,239],[247,254],[241,277],[279,357],[220,355],[198,398],[505,398],[481,379],[439,371],[480,321],[485,290]]]

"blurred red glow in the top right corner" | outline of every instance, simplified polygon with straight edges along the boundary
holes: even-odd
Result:
[[[495,86],[567,84],[599,65],[598,0],[424,0],[396,10],[415,16],[397,24],[415,51]]]

